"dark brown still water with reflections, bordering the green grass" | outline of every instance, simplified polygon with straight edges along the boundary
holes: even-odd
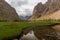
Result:
[[[13,37],[13,40],[60,40],[60,26],[57,25],[54,27],[59,31],[51,26],[24,28],[20,36],[18,35],[17,39],[14,39]]]

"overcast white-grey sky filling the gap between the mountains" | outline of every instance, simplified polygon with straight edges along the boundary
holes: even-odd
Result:
[[[39,3],[45,3],[47,0],[5,0],[12,7],[14,7],[18,15],[31,15],[34,9],[34,6]]]

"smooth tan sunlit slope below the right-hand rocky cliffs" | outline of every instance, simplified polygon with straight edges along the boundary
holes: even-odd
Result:
[[[60,20],[60,10],[58,10],[54,13],[46,14],[36,20],[48,20],[48,19]]]

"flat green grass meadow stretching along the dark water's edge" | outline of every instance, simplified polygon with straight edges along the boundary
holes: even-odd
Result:
[[[38,25],[46,26],[51,25],[54,22],[51,21],[31,21],[31,22],[0,22],[0,40],[4,37],[12,37],[19,35],[23,28],[34,28]]]

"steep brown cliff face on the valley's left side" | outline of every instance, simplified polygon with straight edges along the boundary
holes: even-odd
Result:
[[[14,8],[12,8],[5,0],[0,0],[0,20],[14,21],[19,17]]]

